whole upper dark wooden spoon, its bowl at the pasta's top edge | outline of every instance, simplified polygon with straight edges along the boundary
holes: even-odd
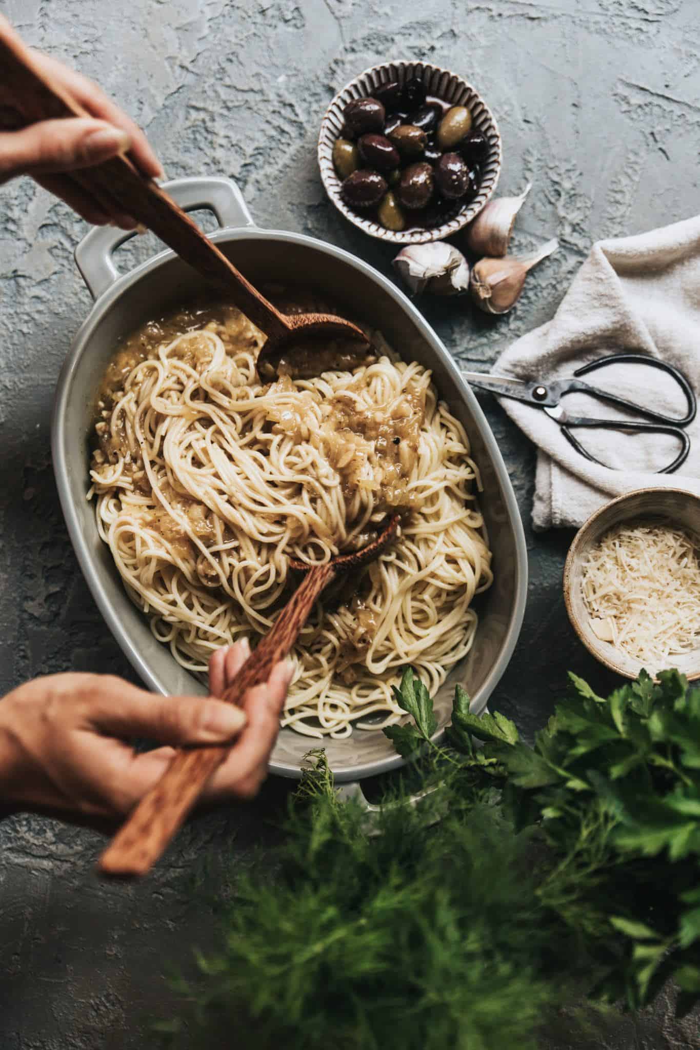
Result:
[[[0,40],[0,128],[90,116],[60,84],[37,68],[31,51],[20,40]],[[338,338],[343,339],[345,353],[366,356],[369,342],[351,321],[334,314],[289,316],[276,310],[165,190],[143,175],[127,156],[73,171],[69,177],[109,214],[121,211],[147,226],[181,258],[226,291],[227,297],[268,337],[258,359],[262,378],[274,377],[282,356],[293,359],[295,344],[307,359],[310,341],[312,356],[319,341]]]

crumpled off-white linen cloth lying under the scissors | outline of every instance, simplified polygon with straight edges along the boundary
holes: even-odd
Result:
[[[700,215],[650,233],[597,242],[553,319],[509,346],[492,371],[547,382],[619,352],[667,361],[699,394]],[[616,364],[582,379],[663,415],[685,415],[683,394],[658,369]],[[563,403],[576,415],[624,419],[622,412],[588,395],[568,394]],[[650,485],[700,496],[698,418],[686,427],[691,453],[685,463],[675,474],[657,474],[675,459],[680,449],[677,439],[575,429],[580,443],[609,464],[603,467],[579,455],[542,410],[508,398],[501,404],[537,445],[535,529],[581,525],[613,497]]]

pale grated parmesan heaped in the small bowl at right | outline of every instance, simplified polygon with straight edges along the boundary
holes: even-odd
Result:
[[[617,525],[589,554],[581,580],[602,642],[661,670],[700,645],[700,541],[670,525]]]

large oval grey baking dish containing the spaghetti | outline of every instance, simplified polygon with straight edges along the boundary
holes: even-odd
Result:
[[[434,698],[437,738],[449,721],[460,682],[483,711],[503,674],[519,633],[527,594],[527,553],[517,504],[499,446],[471,391],[421,314],[389,280],[347,252],[296,233],[260,230],[234,183],[227,178],[179,178],[167,191],[188,211],[207,208],[222,227],[211,238],[254,282],[272,280],[318,289],[341,313],[381,328],[408,360],[432,370],[434,382],[469,435],[484,483],[483,512],[493,551],[493,586],[480,597],[475,644]],[[114,349],[148,318],[191,301],[204,280],[172,252],[162,252],[120,274],[116,249],[131,234],[110,227],[92,230],[76,252],[78,267],[96,298],[76,336],[59,379],[54,412],[54,469],[71,542],[94,600],[114,637],[146,685],[174,695],[205,693],[153,636],[147,617],[130,602],[107,546],[98,533],[94,506],[86,500],[90,433],[96,395]],[[310,748],[321,741],[283,729],[271,771],[298,777]],[[339,781],[353,781],[403,764],[380,731],[355,732],[323,747]]]

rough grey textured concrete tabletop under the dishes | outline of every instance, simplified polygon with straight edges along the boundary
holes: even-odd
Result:
[[[465,363],[486,366],[550,317],[594,239],[698,210],[697,0],[0,0],[0,10],[31,44],[100,80],[146,127],[169,175],[233,175],[260,225],[326,238],[384,272],[391,252],[324,197],[314,155],[324,106],[390,57],[466,75],[501,125],[502,191],[534,183],[518,246],[556,234],[563,249],[507,318],[425,303]],[[50,467],[54,385],[89,310],[72,264],[84,232],[28,181],[0,190],[2,692],[70,668],[130,675],[78,571]],[[529,529],[533,453],[486,410],[528,524],[531,572],[522,639],[494,700],[532,732],[567,670],[609,682],[566,620],[570,537]],[[266,822],[283,796],[270,783],[254,804],[197,820],[137,887],[96,881],[92,833],[33,817],[0,825],[1,1050],[151,1047],[144,1026],[167,1012],[164,967],[187,965],[210,932],[188,892],[193,865],[204,856],[246,864],[271,841]],[[698,1045],[697,1018],[667,1016],[664,1000],[606,1045]]]

